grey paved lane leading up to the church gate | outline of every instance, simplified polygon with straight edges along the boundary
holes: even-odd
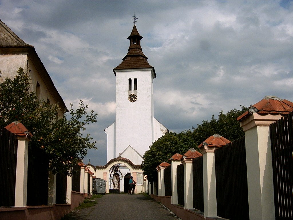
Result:
[[[178,220],[168,209],[144,195],[106,194],[98,204],[74,210],[72,220]]]

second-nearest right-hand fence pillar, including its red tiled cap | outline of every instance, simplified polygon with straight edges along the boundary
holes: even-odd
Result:
[[[216,167],[214,152],[217,148],[230,143],[218,134],[214,134],[203,141],[200,148],[203,160],[203,188],[204,188],[204,216],[217,217]],[[191,181],[192,182],[192,181]]]

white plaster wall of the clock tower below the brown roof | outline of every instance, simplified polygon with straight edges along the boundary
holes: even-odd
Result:
[[[128,91],[128,79],[137,78],[137,90]],[[137,94],[130,102],[128,95]],[[153,142],[153,76],[151,69],[116,72],[116,154],[128,145],[140,155]],[[131,158],[129,158],[131,160]]]

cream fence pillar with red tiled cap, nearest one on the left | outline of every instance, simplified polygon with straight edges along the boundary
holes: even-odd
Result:
[[[18,121],[12,122],[5,128],[16,134],[18,139],[14,206],[25,207],[28,184],[28,142],[33,135]]]

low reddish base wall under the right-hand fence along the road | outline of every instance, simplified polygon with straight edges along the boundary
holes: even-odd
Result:
[[[164,206],[170,209],[178,218],[182,220],[203,220],[205,219],[202,212],[195,209],[185,209],[182,206],[171,204],[171,196],[157,196],[151,194],[151,197],[157,202],[161,202]]]

